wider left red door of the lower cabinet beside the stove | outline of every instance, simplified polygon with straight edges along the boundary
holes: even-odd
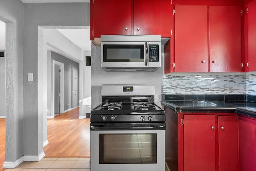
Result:
[[[215,171],[216,116],[184,115],[184,171]]]

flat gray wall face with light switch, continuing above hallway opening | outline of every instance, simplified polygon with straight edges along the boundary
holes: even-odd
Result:
[[[42,116],[38,113],[38,26],[89,26],[89,3],[24,4],[24,155],[43,152]],[[34,73],[34,82],[26,76]]]

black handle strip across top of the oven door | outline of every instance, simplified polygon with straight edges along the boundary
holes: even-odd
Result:
[[[112,130],[165,130],[165,123],[160,124],[92,124],[91,131],[112,131]]]

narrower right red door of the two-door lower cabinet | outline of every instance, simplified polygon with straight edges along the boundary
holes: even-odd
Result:
[[[238,116],[218,116],[219,171],[238,171]]]

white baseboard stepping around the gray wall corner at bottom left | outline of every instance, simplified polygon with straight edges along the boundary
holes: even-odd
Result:
[[[45,156],[44,152],[42,152],[40,155],[24,155],[14,162],[5,161],[3,168],[13,169],[18,165],[20,165],[23,161],[40,161],[42,158],[44,158],[44,156]]]

